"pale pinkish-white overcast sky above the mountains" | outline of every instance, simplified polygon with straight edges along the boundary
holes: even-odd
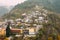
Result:
[[[0,0],[0,6],[11,6],[22,3],[26,0]]]

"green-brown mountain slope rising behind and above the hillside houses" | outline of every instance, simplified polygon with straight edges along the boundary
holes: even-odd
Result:
[[[38,5],[39,9],[40,7],[43,7],[46,10],[54,11],[54,12],[60,12],[59,8],[59,0],[27,0],[24,3],[17,4],[10,12],[9,14],[5,14],[5,18],[20,18],[22,13],[27,13],[29,11],[34,11],[36,9],[35,6]],[[58,2],[58,3],[56,3]],[[57,5],[58,4],[58,8]]]

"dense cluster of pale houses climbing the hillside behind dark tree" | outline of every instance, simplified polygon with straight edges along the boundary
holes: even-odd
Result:
[[[36,6],[38,8],[38,6]],[[0,35],[6,34],[7,22],[10,21],[10,29],[15,36],[24,36],[34,37],[38,33],[38,30],[43,28],[43,23],[47,23],[47,10],[42,9],[41,11],[31,11],[30,14],[23,13],[23,19],[18,18],[16,20],[5,20],[0,22]]]

